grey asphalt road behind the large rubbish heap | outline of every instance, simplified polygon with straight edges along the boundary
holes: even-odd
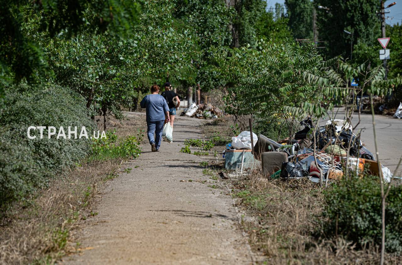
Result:
[[[343,119],[344,111],[339,111],[334,119]],[[332,118],[332,117],[331,117]],[[373,123],[371,115],[361,114],[360,123],[356,129],[363,129],[361,141],[373,154],[375,154]],[[394,173],[399,159],[402,156],[402,119],[395,119],[392,116],[375,115],[375,131],[377,135],[377,147],[381,164],[390,168]],[[325,119],[325,121],[328,119]],[[322,124],[325,124],[322,121]],[[359,121],[357,113],[353,115],[352,125],[355,126]],[[402,165],[398,173],[402,176]]]

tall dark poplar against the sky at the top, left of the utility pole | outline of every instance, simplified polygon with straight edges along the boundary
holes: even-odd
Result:
[[[308,39],[313,36],[311,0],[285,0],[289,28],[295,39]]]

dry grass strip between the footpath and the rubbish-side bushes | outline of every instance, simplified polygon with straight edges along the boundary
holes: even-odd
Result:
[[[230,136],[230,117],[210,123],[206,138]],[[232,194],[244,213],[242,228],[250,246],[261,255],[261,264],[376,264],[379,248],[361,250],[342,237],[321,239],[320,214],[324,194],[305,180],[268,180],[254,171],[232,181]],[[330,188],[330,187],[328,187]],[[402,257],[386,254],[386,264],[402,264]]]

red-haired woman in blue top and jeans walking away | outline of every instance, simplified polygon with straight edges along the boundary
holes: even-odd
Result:
[[[151,94],[146,95],[139,104],[142,109],[146,108],[148,140],[150,141],[152,152],[159,151],[164,121],[170,122],[168,103],[158,93],[159,86],[153,85],[151,87]]]

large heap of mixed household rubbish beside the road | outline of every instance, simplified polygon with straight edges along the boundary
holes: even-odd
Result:
[[[301,124],[305,125],[305,128],[298,131],[291,140],[275,142],[263,135],[258,137],[253,147],[252,159],[254,164],[260,162],[265,177],[309,178],[313,182],[332,181],[342,179],[345,168],[360,176],[363,176],[365,171],[378,176],[381,168],[384,180],[390,182],[393,177],[390,170],[375,161],[374,155],[360,141],[360,135],[353,134],[349,123],[334,119],[318,127],[315,134],[316,152],[311,119],[301,121]],[[231,149],[228,145],[225,152],[233,152]],[[246,151],[251,154],[251,150]],[[244,168],[252,164],[248,159],[247,165],[244,165],[244,157],[243,154],[241,162],[238,163],[241,164],[238,168],[241,168],[242,174]]]

